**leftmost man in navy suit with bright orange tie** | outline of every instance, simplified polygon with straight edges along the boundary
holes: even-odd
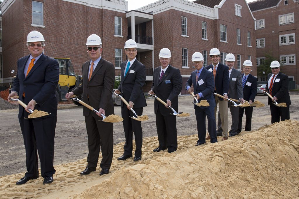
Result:
[[[45,48],[43,35],[33,30],[27,36],[30,55],[18,60],[18,74],[14,80],[13,92],[8,101],[19,94],[19,99],[28,104],[24,109],[19,106],[19,122],[24,138],[26,151],[25,177],[16,182],[24,184],[39,177],[38,158],[40,160],[43,183],[53,182],[54,137],[57,121],[57,100],[55,88],[59,81],[58,62],[43,54]],[[51,113],[42,118],[28,118],[29,110],[40,110]]]

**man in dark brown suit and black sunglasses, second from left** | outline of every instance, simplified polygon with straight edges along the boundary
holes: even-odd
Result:
[[[111,62],[101,57],[102,41],[95,34],[90,35],[86,42],[87,52],[90,60],[82,66],[83,82],[72,92],[68,92],[65,97],[72,95],[82,95],[82,100],[91,107],[99,110],[95,113],[83,107],[85,116],[86,131],[88,136],[88,156],[87,166],[80,174],[87,175],[96,170],[102,145],[103,159],[100,163],[100,175],[108,174],[113,156],[113,123],[102,122],[101,114],[114,114],[112,102],[112,90],[115,81],[114,66]]]

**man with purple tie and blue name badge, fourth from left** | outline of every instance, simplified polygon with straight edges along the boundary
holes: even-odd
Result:
[[[152,88],[149,94],[156,95],[166,101],[164,106],[155,99],[154,108],[156,114],[156,126],[158,132],[159,147],[154,152],[168,149],[174,152],[178,148],[176,133],[176,116],[167,107],[170,106],[178,112],[178,95],[182,89],[182,76],[179,69],[171,66],[171,53],[168,48],[162,48],[159,53],[161,66],[155,68]]]

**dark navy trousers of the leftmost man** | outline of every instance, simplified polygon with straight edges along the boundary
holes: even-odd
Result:
[[[52,176],[56,172],[53,161],[57,116],[24,119],[24,117],[28,118],[28,115],[29,113],[23,109],[23,115],[19,118],[26,151],[25,176],[28,178],[39,176],[37,153],[42,177]]]

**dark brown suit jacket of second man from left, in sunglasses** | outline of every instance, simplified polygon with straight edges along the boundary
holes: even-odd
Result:
[[[111,62],[101,58],[96,68],[92,72],[90,81],[88,81],[90,61],[86,61],[82,66],[82,84],[73,90],[75,95],[82,95],[82,100],[94,107],[105,110],[105,115],[114,114],[112,101],[112,90],[115,81],[115,70]],[[88,116],[92,112],[90,109],[83,107],[83,115]]]

